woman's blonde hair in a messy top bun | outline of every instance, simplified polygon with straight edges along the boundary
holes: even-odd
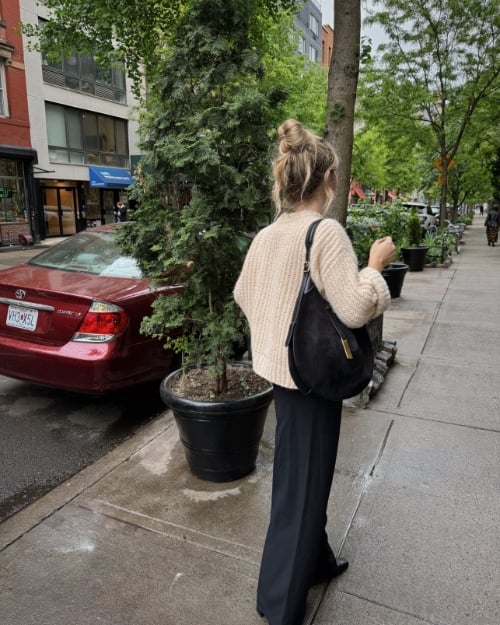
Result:
[[[326,195],[323,210],[326,210],[335,197],[331,186],[324,184],[325,173],[334,171],[338,165],[333,146],[295,119],[281,124],[278,139],[279,152],[273,164],[276,211],[293,212],[299,202],[313,197],[322,185]]]

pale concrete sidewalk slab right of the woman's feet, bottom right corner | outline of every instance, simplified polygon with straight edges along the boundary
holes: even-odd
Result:
[[[368,623],[393,624],[397,613],[498,625],[499,443],[489,432],[396,419],[348,534],[348,573],[330,586],[317,622],[327,611],[331,622],[357,622],[333,617],[344,593],[363,601]],[[375,620],[380,606],[387,620]]]

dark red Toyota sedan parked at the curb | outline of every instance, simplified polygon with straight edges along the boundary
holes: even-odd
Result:
[[[104,393],[171,369],[173,353],[139,328],[159,293],[115,241],[116,227],[80,232],[0,271],[0,374]]]

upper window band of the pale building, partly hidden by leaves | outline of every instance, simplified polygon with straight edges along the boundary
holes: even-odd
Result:
[[[43,23],[43,20],[41,20]],[[44,82],[126,104],[125,73],[117,68],[100,67],[92,55],[73,52],[62,61],[42,58]]]

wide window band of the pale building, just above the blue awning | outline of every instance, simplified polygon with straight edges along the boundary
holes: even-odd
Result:
[[[125,120],[50,102],[45,116],[50,162],[129,167]]]

